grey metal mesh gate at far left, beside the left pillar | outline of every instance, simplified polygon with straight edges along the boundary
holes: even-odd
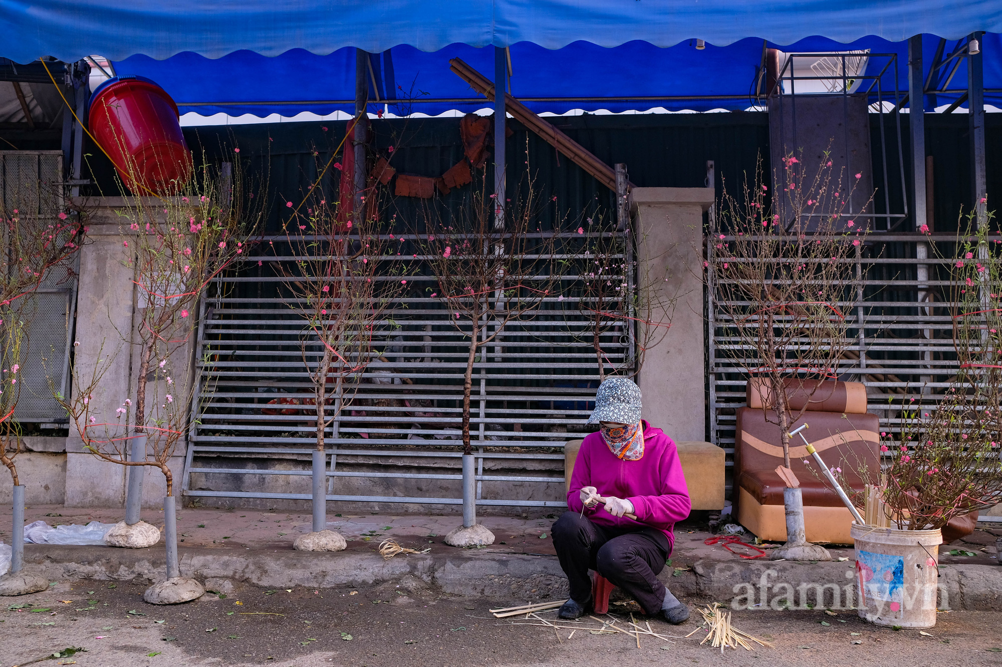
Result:
[[[62,203],[62,151],[0,151],[0,209],[31,219],[39,232],[57,220]],[[57,239],[58,240],[58,239]],[[52,266],[38,288],[24,296],[27,352],[21,356],[21,389],[14,419],[66,423],[52,395],[66,389],[70,322],[75,301],[76,254]]]

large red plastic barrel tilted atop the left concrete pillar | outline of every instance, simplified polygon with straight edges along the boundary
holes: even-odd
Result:
[[[90,133],[133,194],[171,194],[191,175],[177,105],[147,78],[108,79],[90,97]]]

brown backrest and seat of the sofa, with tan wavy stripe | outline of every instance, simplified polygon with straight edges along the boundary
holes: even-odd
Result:
[[[770,413],[770,419],[775,421],[775,413]],[[849,485],[862,491],[864,481],[856,471],[863,466],[871,474],[880,469],[877,456],[880,421],[877,416],[843,417],[841,413],[807,413],[793,428],[804,422],[810,425],[804,432],[808,442],[815,446],[825,463],[829,467],[842,468]],[[767,422],[762,409],[740,408],[737,410],[734,434],[736,486],[747,491],[763,505],[783,505],[786,485],[776,473],[776,467],[783,465],[780,427]],[[805,464],[805,459],[811,461],[810,467]],[[795,436],[790,442],[790,467],[804,490],[805,505],[842,506],[838,494],[829,488],[828,481],[814,458],[807,453],[800,436]]]

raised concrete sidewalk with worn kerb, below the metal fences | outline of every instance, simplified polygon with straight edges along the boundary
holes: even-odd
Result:
[[[311,529],[306,514],[258,510],[184,508],[178,512],[181,571],[225,593],[235,583],[266,588],[340,589],[394,583],[433,586],[446,595],[498,600],[549,600],[566,595],[550,538],[556,514],[541,518],[484,517],[496,537],[485,549],[457,549],[443,538],[459,525],[455,515],[329,515],[328,527],[348,539],[348,549],[336,553],[296,552],[295,538]],[[35,506],[26,521],[50,525],[112,523],[121,509],[78,509]],[[146,510],[143,520],[162,525],[162,511]],[[9,539],[10,514],[0,514],[0,539]],[[1002,567],[995,559],[997,529],[979,530],[952,545],[974,557],[941,558],[941,603],[951,609],[1002,611]],[[427,554],[383,559],[379,543],[392,537],[402,546]],[[810,608],[852,606],[853,550],[832,548],[829,563],[744,560],[720,544],[706,545],[713,536],[704,526],[675,528],[675,551],[660,579],[676,595],[731,601],[743,595],[747,606],[783,605],[789,586],[793,599],[786,606]],[[752,536],[744,538],[750,541]],[[773,545],[765,545],[767,551]],[[947,551],[944,546],[942,551]],[[735,550],[741,551],[735,547]],[[163,576],[160,545],[129,550],[99,546],[26,545],[29,567],[50,580],[88,578],[115,581],[155,581]],[[753,591],[749,594],[749,591]],[[748,598],[748,595],[752,598]],[[778,601],[779,600],[779,601]],[[744,604],[744,603],[742,603]]]

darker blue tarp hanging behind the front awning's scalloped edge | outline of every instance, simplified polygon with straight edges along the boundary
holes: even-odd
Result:
[[[923,39],[927,74],[939,42],[933,35]],[[947,41],[945,54],[953,52],[958,44],[955,40]],[[896,77],[898,90],[902,93],[908,90],[906,42],[865,37],[840,44],[811,37],[791,45],[772,42],[767,45],[790,53],[851,49],[894,53],[897,67],[885,67],[890,63],[889,58],[873,56],[867,74],[876,76],[886,69],[881,79],[885,100],[893,98]],[[511,47],[511,92],[537,113],[563,113],[570,109],[615,112],[652,107],[696,111],[744,109],[754,103],[752,91],[763,46],[764,40],[759,38],[745,38],[724,47],[706,45],[703,50],[697,50],[690,41],[668,48],[636,41],[604,48],[578,41],[556,50],[523,42]],[[1002,94],[997,92],[1002,90],[1000,36],[984,35],[982,51],[985,87],[989,91],[985,99],[1002,106]],[[380,100],[391,105],[389,110],[398,115],[409,111],[436,115],[450,109],[473,111],[487,106],[482,96],[449,70],[449,60],[454,57],[493,78],[491,48],[452,44],[439,51],[424,52],[412,46],[396,46],[371,56],[376,85],[370,83],[375,88],[370,96],[375,99],[378,94]],[[237,51],[215,60],[194,53],[181,53],[166,60],[135,55],[115,62],[114,66],[119,75],[141,75],[156,81],[173,97],[182,113],[250,113],[264,117],[272,113],[293,116],[302,111],[322,115],[336,110],[353,113],[355,108],[353,48],[330,55],[297,49],[276,57]],[[962,91],[966,86],[967,65],[961,58],[949,89]],[[927,96],[926,108],[948,104],[958,95],[959,92]],[[696,96],[703,99],[678,99]],[[668,99],[672,97],[675,99]],[[874,92],[872,99],[876,98]],[[426,101],[429,99],[442,101]],[[375,112],[381,107],[374,102],[370,110]]]

